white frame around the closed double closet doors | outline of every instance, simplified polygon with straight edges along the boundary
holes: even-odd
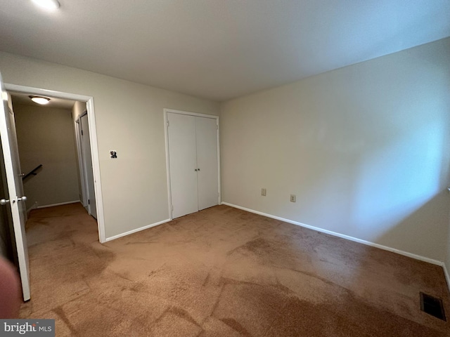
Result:
[[[166,171],[167,171],[167,197],[169,198],[169,218],[172,220],[172,191],[170,188],[170,159],[169,159],[169,125],[167,120],[167,113],[171,112],[172,114],[187,114],[189,116],[197,116],[197,117],[206,117],[211,119],[216,119],[217,123],[217,179],[218,186],[217,190],[219,191],[218,204],[221,204],[221,189],[220,189],[220,143],[219,143],[219,116],[214,116],[214,114],[198,114],[196,112],[188,112],[174,109],[164,109],[164,132],[165,132],[165,140],[166,140]]]

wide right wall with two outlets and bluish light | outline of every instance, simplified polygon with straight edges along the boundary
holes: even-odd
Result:
[[[444,39],[224,103],[222,200],[443,261],[449,55]]]

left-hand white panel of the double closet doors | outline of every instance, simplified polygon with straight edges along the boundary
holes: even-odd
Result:
[[[198,211],[195,117],[167,113],[172,218]]]

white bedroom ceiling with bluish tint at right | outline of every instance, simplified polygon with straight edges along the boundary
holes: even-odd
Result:
[[[449,0],[59,1],[0,0],[0,51],[213,100],[450,36]]]

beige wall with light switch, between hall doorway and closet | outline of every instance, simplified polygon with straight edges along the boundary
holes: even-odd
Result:
[[[10,53],[0,72],[8,84],[94,97],[107,238],[169,218],[163,109],[218,115],[219,103]]]

